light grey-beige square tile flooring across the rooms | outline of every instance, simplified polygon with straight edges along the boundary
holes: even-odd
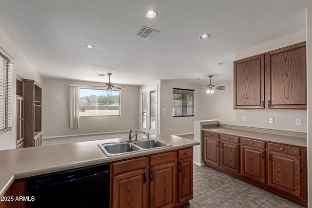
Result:
[[[42,145],[127,137],[129,132],[42,139]],[[180,135],[194,140],[194,134]],[[304,208],[208,166],[194,165],[194,198],[185,208]]]

